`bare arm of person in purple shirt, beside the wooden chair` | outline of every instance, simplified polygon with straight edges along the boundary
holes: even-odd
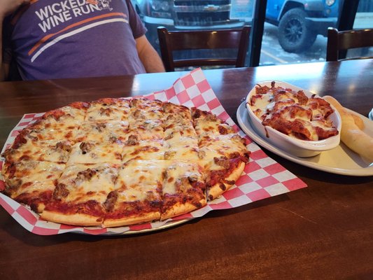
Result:
[[[136,38],[136,48],[147,73],[164,72],[162,59],[145,35]]]

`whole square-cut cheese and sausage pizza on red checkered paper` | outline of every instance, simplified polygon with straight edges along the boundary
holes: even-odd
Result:
[[[42,219],[104,228],[164,221],[229,190],[245,139],[207,111],[146,98],[73,102],[3,154],[3,193]]]

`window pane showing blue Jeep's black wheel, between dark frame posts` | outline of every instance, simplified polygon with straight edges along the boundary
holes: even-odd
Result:
[[[325,61],[339,0],[267,0],[260,65]]]

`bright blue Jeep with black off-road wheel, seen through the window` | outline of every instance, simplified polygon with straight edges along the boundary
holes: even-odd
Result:
[[[283,50],[299,53],[336,27],[338,14],[339,0],[267,0],[265,21],[279,27]]]

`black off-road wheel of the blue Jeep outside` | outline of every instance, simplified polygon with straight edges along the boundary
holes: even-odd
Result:
[[[304,52],[314,44],[317,33],[307,27],[301,8],[288,10],[279,23],[279,43],[287,52]]]

